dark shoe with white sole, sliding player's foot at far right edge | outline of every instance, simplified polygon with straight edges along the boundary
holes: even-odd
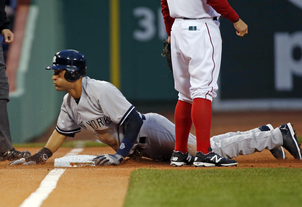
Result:
[[[283,124],[279,126],[282,133],[283,144],[282,146],[287,149],[287,151],[294,156],[295,159],[301,159],[301,148],[297,140],[294,128],[291,123]]]

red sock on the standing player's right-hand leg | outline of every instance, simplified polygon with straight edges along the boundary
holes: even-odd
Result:
[[[194,98],[192,104],[192,120],[196,133],[196,151],[207,154],[211,146],[212,102],[204,98]]]

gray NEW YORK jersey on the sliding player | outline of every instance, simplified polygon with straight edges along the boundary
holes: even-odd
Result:
[[[114,85],[84,77],[78,104],[70,94],[64,96],[56,130],[72,134],[81,131],[82,127],[116,151],[124,138],[125,126],[122,124],[132,110],[135,110],[134,106]],[[135,147],[136,143],[133,149]]]

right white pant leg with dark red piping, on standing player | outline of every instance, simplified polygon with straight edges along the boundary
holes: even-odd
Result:
[[[200,31],[198,44],[191,51],[189,73],[191,98],[213,100],[218,90],[217,79],[221,64],[221,36],[218,22],[197,20]],[[198,26],[197,26],[198,27]],[[190,33],[192,34],[192,33]]]

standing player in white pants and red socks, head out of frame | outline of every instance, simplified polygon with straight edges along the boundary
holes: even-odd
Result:
[[[195,127],[197,153],[195,166],[234,166],[236,160],[212,152],[210,128],[212,100],[218,90],[221,62],[221,36],[218,18],[233,22],[238,36],[248,33],[227,0],[161,0],[162,14],[171,42],[171,60],[178,102],[175,108],[175,150],[171,157],[187,156],[188,135]],[[214,157],[219,157],[218,164]]]

